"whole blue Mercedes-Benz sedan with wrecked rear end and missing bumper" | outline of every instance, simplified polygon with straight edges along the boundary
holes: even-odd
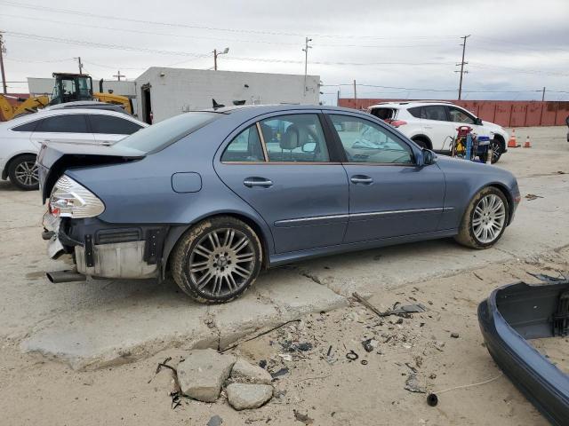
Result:
[[[487,248],[520,201],[506,170],[327,106],[180,114],[114,146],[50,143],[38,167],[43,237],[73,256],[73,279],[171,274],[204,302],[313,256],[450,236]]]

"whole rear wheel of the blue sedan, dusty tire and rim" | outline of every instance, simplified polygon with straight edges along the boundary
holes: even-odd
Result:
[[[193,226],[172,253],[172,278],[200,303],[220,304],[243,295],[262,264],[259,237],[235,217],[212,217]]]

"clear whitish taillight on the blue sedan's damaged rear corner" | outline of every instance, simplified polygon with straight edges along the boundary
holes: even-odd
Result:
[[[103,201],[71,177],[63,175],[53,185],[49,201],[55,217],[96,217],[105,211]]]

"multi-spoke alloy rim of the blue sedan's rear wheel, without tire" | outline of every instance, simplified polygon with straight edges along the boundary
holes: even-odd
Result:
[[[189,256],[189,273],[199,292],[219,297],[236,293],[252,277],[252,241],[234,228],[206,233]]]

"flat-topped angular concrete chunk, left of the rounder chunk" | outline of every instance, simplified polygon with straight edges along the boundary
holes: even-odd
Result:
[[[178,365],[182,393],[199,401],[215,402],[235,362],[235,357],[212,349],[190,352]]]

